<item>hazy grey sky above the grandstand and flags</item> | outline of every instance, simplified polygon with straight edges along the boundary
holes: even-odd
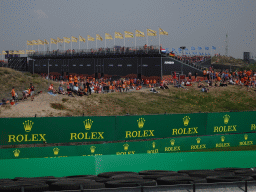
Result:
[[[242,59],[243,52],[251,52],[254,58],[255,8],[255,0],[0,0],[0,51],[26,50],[27,40],[50,42],[50,38],[95,38],[96,34],[104,39],[105,33],[114,37],[115,31],[124,34],[136,29],[146,34],[147,28],[157,31],[157,36],[137,37],[136,46],[143,46],[147,39],[148,45],[158,46],[160,27],[168,32],[160,36],[160,43],[169,51],[179,53],[178,48],[186,46],[191,54],[225,55],[228,40],[228,56]],[[123,46],[124,40],[115,39],[115,45]],[[104,46],[105,39],[97,41],[98,48]],[[106,40],[106,46],[113,47],[114,40]],[[126,38],[125,46],[135,47],[135,39]],[[96,48],[96,42],[89,41],[88,47]],[[58,48],[63,50],[64,44]],[[65,49],[70,48],[65,44]],[[80,48],[87,48],[87,40],[80,42]],[[53,49],[57,45],[51,44]],[[72,43],[72,49],[79,49],[79,43]],[[44,51],[43,45],[39,51]]]

